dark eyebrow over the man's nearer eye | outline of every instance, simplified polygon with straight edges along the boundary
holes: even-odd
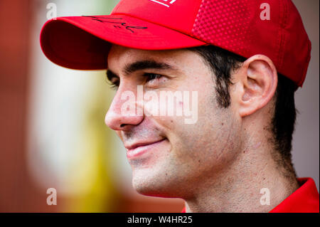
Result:
[[[139,60],[126,65],[124,67],[124,73],[126,75],[129,75],[130,73],[134,73],[137,70],[144,69],[176,70],[174,66],[169,65],[168,63],[160,63],[156,60]]]

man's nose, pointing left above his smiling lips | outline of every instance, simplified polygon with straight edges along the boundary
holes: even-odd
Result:
[[[129,95],[124,95],[124,92]],[[129,130],[134,125],[139,125],[144,119],[143,114],[138,110],[137,95],[134,94],[133,91],[117,90],[105,116],[105,124],[112,130]]]

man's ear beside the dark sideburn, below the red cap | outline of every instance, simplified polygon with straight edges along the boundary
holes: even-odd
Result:
[[[277,70],[267,56],[255,55],[245,60],[235,73],[237,83],[236,100],[238,100],[240,117],[265,107],[277,89]]]

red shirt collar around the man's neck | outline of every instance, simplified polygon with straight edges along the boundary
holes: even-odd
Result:
[[[319,192],[314,180],[309,177],[297,180],[299,189],[274,207],[270,213],[319,213]],[[181,213],[186,213],[186,207]]]

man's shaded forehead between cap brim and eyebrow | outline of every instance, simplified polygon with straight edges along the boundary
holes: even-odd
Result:
[[[187,49],[146,51],[112,45],[107,57],[108,68],[110,70],[124,68],[126,65],[139,60],[155,60],[159,63],[168,63],[181,70],[202,68],[205,65],[201,56]]]

